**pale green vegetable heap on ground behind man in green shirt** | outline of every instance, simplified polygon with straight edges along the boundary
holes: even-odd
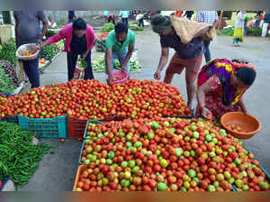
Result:
[[[104,56],[98,57],[92,63],[92,68],[95,72],[104,72],[105,71],[105,59]],[[121,64],[119,60],[115,60],[114,69],[121,69]],[[130,71],[137,72],[141,69],[139,61],[136,57],[130,59]]]

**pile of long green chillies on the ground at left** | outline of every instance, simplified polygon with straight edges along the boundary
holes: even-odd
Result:
[[[0,121],[0,180],[9,177],[16,186],[23,187],[31,179],[42,155],[51,148],[34,145],[33,135],[17,124]]]

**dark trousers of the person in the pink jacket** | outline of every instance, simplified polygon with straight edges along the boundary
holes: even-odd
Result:
[[[67,78],[71,80],[74,78],[74,71],[76,69],[76,60],[78,57],[78,53],[74,51],[67,52]],[[94,74],[91,65],[91,50],[89,51],[87,57],[85,58],[87,62],[87,68],[85,69],[85,80],[86,79],[94,79]]]

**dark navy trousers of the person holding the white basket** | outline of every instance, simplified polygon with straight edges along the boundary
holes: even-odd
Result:
[[[40,87],[40,69],[39,69],[40,57],[35,60],[23,60],[23,69],[29,81],[31,88]]]

